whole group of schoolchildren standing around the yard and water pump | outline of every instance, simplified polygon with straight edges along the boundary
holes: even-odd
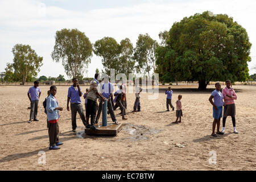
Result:
[[[113,85],[108,81],[108,79],[105,79],[102,84],[100,84],[97,80],[98,73],[95,74],[94,79],[90,82],[89,89],[86,89],[86,93],[83,95],[85,99],[85,110],[86,110],[86,117],[84,115],[84,110],[81,105],[81,96],[82,91],[81,87],[78,84],[77,78],[73,78],[73,85],[69,87],[68,89],[68,102],[67,102],[67,110],[69,111],[69,102],[71,104],[71,118],[72,118],[72,131],[76,131],[76,114],[77,112],[80,115],[80,118],[82,120],[82,123],[84,123],[86,128],[92,129],[92,130],[98,130],[95,126],[96,123],[98,123],[98,118],[100,118],[101,108],[102,108],[102,102],[108,102],[108,114],[111,115],[112,121],[115,124],[118,124],[117,119],[114,115],[114,110],[119,107],[121,109],[122,119],[126,120],[125,118],[125,109],[127,109],[126,104],[126,90],[123,89],[125,84],[122,84],[119,86],[119,90],[114,93],[114,100],[113,100]],[[39,82],[35,81],[34,86],[32,86],[28,90],[28,98],[31,101],[31,112],[30,112],[30,120],[28,123],[31,122],[31,120],[34,118],[34,121],[39,121],[36,118],[37,115],[37,107],[38,107],[38,101],[40,98],[41,91],[39,89]],[[234,105],[234,100],[237,99],[236,92],[234,92],[234,89],[231,88],[231,81],[226,81],[226,87],[222,90],[222,93],[220,92],[221,85],[220,83],[215,84],[216,90],[214,90],[209,98],[210,103],[213,105],[213,126],[212,126],[212,136],[217,137],[217,135],[214,133],[216,125],[217,125],[217,134],[223,135],[225,132],[225,123],[226,123],[226,117],[229,115],[232,117],[233,127],[234,127],[234,133],[238,133],[236,130],[236,106]],[[99,90],[100,89],[100,90]],[[141,105],[139,98],[140,93],[142,92],[142,88],[138,85],[135,86],[135,96],[136,100],[134,103],[134,110],[133,113],[136,111],[141,111]],[[59,103],[55,97],[57,93],[56,86],[51,86],[50,90],[48,90],[48,97],[43,102],[44,106],[44,112],[47,114],[47,127],[48,127],[48,134],[49,134],[49,150],[57,150],[59,149],[61,142],[59,142],[59,125],[58,121],[60,118],[59,111],[63,110],[63,107],[59,107]],[[172,106],[171,100],[172,100],[172,90],[171,87],[168,87],[168,90],[166,90],[165,94],[167,95],[166,98],[166,111],[169,110],[169,106],[171,106],[172,110],[174,111],[175,107]],[[179,94],[178,100],[176,101],[176,121],[172,123],[181,123],[181,116],[183,116],[182,113],[182,105],[181,105],[181,98],[182,95]],[[100,102],[100,105],[97,103],[97,99]],[[214,102],[212,101],[214,99]],[[224,100],[224,102],[223,102]],[[114,104],[115,102],[115,104]],[[220,132],[220,119],[222,118],[222,106],[224,106],[224,117],[223,117],[223,128]],[[96,117],[97,113],[97,117]],[[89,117],[91,118],[90,124],[89,124]],[[179,120],[179,121],[178,121]]]

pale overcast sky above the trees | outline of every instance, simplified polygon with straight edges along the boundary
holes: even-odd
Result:
[[[256,1],[255,0],[0,0],[0,72],[13,62],[15,44],[29,44],[43,66],[39,76],[68,78],[61,63],[51,59],[55,34],[62,28],[77,28],[94,43],[104,36],[119,43],[129,38],[135,47],[139,34],[158,40],[160,31],[170,30],[174,22],[204,11],[228,14],[246,28],[253,44],[249,63],[250,75],[256,73]],[[103,69],[101,57],[93,55],[84,77],[93,77],[96,68]]]

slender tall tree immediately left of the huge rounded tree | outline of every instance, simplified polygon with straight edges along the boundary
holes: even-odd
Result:
[[[137,62],[138,73],[148,73],[150,75],[151,69],[156,71],[155,65],[155,50],[158,48],[156,40],[152,39],[148,34],[138,36],[134,51],[134,60]]]

